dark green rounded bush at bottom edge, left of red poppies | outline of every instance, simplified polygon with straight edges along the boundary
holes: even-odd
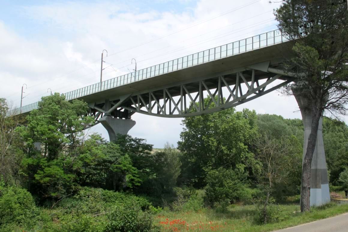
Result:
[[[126,201],[114,206],[108,214],[105,231],[150,232],[156,229],[152,223],[149,213],[141,211],[135,202]]]

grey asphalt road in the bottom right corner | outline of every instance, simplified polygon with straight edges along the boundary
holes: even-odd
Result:
[[[277,230],[281,232],[347,232],[348,231],[348,213],[341,214],[335,217],[325,218],[319,221],[310,222],[303,225],[290,227],[283,230]]]

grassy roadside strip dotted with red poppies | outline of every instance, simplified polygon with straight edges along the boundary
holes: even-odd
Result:
[[[231,205],[226,213],[218,213],[214,209],[202,209],[197,212],[162,211],[156,215],[156,223],[161,231],[272,231],[290,226],[300,225],[319,219],[348,212],[348,204],[330,203],[301,214],[299,205],[282,205],[285,213],[290,215],[278,223],[258,225],[255,222],[257,208],[254,205]]]

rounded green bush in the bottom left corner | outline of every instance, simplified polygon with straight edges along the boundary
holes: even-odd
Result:
[[[0,226],[20,224],[37,215],[34,199],[25,189],[13,186],[0,191]]]

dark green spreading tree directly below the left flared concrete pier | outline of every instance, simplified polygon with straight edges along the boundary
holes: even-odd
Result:
[[[114,191],[132,189],[140,185],[139,170],[132,160],[121,152],[119,145],[107,142],[99,134],[92,134],[77,147],[76,158],[70,157],[71,173],[79,178],[81,186],[102,187]]]

